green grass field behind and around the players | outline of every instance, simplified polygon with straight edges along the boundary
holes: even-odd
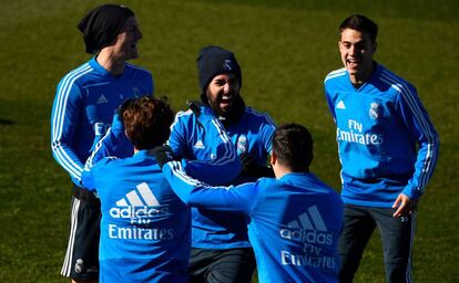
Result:
[[[346,1],[348,2],[348,1]],[[144,34],[134,63],[151,70],[156,95],[175,109],[198,96],[195,56],[206,44],[235,52],[242,95],[276,123],[306,125],[313,170],[339,188],[335,128],[322,82],[340,66],[337,25],[360,12],[380,27],[376,60],[412,82],[440,134],[436,174],[419,206],[417,282],[458,282],[459,3],[455,0],[124,1]],[[70,180],[50,150],[55,85],[88,60],[75,29],[100,1],[2,0],[0,22],[0,282],[67,282]],[[456,94],[455,94],[456,93]],[[456,125],[456,126],[455,126]],[[455,142],[456,140],[456,142]],[[377,234],[356,282],[384,282]]]

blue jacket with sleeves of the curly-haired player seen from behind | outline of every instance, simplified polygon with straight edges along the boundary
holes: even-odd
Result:
[[[221,158],[184,160],[183,165],[191,171],[220,169],[236,176],[241,163],[218,118],[203,108],[196,120],[206,127],[206,137]],[[123,124],[114,115],[82,175],[83,186],[95,189],[102,203],[100,281],[186,282],[190,209],[173,193],[146,150],[116,158],[129,155],[129,144]]]

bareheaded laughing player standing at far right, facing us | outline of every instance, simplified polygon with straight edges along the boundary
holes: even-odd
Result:
[[[416,88],[375,62],[378,28],[354,14],[339,27],[344,67],[325,78],[343,166],[340,282],[351,282],[376,226],[388,282],[411,282],[416,205],[438,157],[438,136]]]

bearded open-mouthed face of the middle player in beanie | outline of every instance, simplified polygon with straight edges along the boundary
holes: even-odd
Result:
[[[239,81],[232,73],[214,76],[207,86],[206,96],[208,104],[218,116],[228,114],[239,95]]]

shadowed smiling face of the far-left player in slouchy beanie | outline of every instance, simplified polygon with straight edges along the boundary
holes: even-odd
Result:
[[[114,56],[128,61],[139,56],[137,43],[142,39],[142,32],[135,17],[130,17],[113,45]]]

